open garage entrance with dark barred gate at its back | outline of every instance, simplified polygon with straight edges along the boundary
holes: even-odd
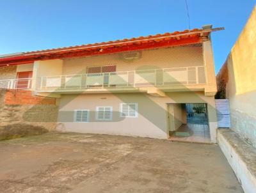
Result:
[[[207,104],[168,104],[170,139],[210,143]]]

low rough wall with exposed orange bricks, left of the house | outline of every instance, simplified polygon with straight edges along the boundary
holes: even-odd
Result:
[[[0,128],[14,124],[56,128],[58,105],[55,98],[31,96],[30,91],[0,89]]]

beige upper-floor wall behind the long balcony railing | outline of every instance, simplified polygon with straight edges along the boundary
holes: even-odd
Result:
[[[136,59],[127,60],[124,59],[124,52],[118,54],[107,54],[101,56],[88,56],[88,57],[78,57],[78,58],[63,58],[63,59],[54,59],[48,61],[36,61],[34,63],[33,68],[33,79],[39,80],[40,77],[44,77],[44,81],[47,80],[53,81],[52,77],[47,76],[54,76],[54,75],[76,75],[76,74],[84,74],[87,73],[88,66],[108,66],[108,65],[116,65],[117,72],[129,72],[134,70],[148,70],[148,69],[163,69],[163,68],[180,68],[177,70],[178,72],[175,75],[176,70],[170,71],[173,73],[174,83],[166,82],[170,85],[164,84],[163,88],[159,88],[161,86],[161,79],[163,79],[164,75],[167,75],[167,79],[171,78],[172,75],[169,75],[168,72],[161,74],[154,72],[150,77],[147,77],[148,81],[155,82],[157,87],[162,91],[205,91],[205,95],[207,96],[214,96],[216,93],[216,79],[214,75],[214,61],[212,56],[212,47],[211,41],[207,41],[204,43],[198,43],[194,45],[184,45],[184,46],[176,46],[176,47],[168,47],[168,48],[161,48],[161,49],[149,49],[149,50],[141,50],[140,57]],[[199,66],[195,68],[194,66]],[[187,67],[187,68],[184,68]],[[189,68],[191,67],[191,68]],[[49,70],[51,69],[51,70]],[[161,71],[160,71],[161,72]],[[177,77],[177,74],[180,73],[180,76]],[[119,75],[119,74],[118,74]],[[111,91],[118,91],[120,93],[125,91],[131,91],[132,86],[125,87],[126,84],[131,83],[131,85],[136,81],[141,81],[140,79],[145,79],[143,75],[136,75],[133,76],[133,73],[129,73],[125,75],[124,73],[120,73],[120,77],[114,77],[111,75],[111,80],[116,81],[117,85],[116,88],[111,88]],[[124,79],[122,78],[124,75]],[[145,73],[145,75],[147,75]],[[157,77],[158,75],[158,77]],[[46,76],[46,77],[45,77]],[[163,76],[163,77],[162,77]],[[176,76],[176,77],[175,77]],[[184,77],[182,77],[184,76]],[[73,81],[66,81],[70,80],[70,77]],[[196,79],[198,77],[198,79]],[[49,92],[54,92],[57,95],[64,94],[64,93],[104,93],[101,88],[93,88],[88,89],[86,84],[90,81],[95,81],[93,77],[90,78],[90,81],[81,81],[89,80],[86,76],[79,77],[72,77],[65,76],[63,77],[54,77],[54,79],[61,79],[62,87],[56,90],[56,88],[47,88],[45,89],[45,84],[40,84],[40,81],[33,85],[33,89],[37,92],[37,95],[47,95]],[[102,77],[99,77],[98,80],[101,82]],[[166,77],[165,77],[166,79]],[[80,80],[80,81],[79,81]],[[160,81],[160,84],[159,82]],[[182,81],[181,81],[182,80]],[[77,82],[76,82],[77,81]],[[119,82],[118,82],[119,81]],[[182,83],[181,83],[181,82]],[[66,89],[66,84],[68,85],[69,82],[73,82],[76,86],[72,88],[68,87]],[[74,83],[76,82],[76,83]],[[179,84],[179,82],[181,84]],[[186,83],[184,83],[186,82]],[[35,81],[34,81],[35,83]],[[115,82],[114,82],[115,83]],[[91,82],[90,84],[93,84]],[[97,81],[95,84],[99,84]],[[111,84],[112,85],[112,84]],[[120,86],[121,85],[121,86]],[[122,86],[123,85],[123,86]],[[42,90],[41,90],[42,86]],[[136,84],[132,91],[140,90],[140,85]],[[143,89],[143,88],[142,88]],[[148,92],[148,90],[146,90]],[[44,94],[43,94],[44,93]],[[58,96],[60,97],[60,96]]]

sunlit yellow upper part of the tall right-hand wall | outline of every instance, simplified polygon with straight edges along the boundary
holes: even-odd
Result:
[[[256,7],[228,57],[232,94],[241,95],[256,90]],[[234,71],[232,73],[232,71]],[[233,85],[231,85],[233,84]]]

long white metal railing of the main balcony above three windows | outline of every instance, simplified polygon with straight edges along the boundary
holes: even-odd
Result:
[[[205,84],[204,66],[40,77],[36,89],[84,89]]]

